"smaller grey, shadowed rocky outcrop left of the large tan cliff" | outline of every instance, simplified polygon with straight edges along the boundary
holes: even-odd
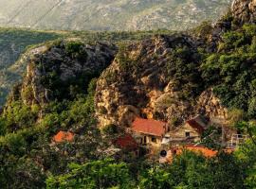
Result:
[[[82,84],[75,79],[82,77],[87,82],[91,77],[98,77],[112,62],[116,50],[110,43],[85,44],[79,40],[31,50],[21,59],[26,61],[22,64],[27,64],[27,74],[20,87],[21,100],[25,104],[43,104],[71,95]]]

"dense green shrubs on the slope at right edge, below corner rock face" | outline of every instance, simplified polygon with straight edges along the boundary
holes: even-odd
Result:
[[[201,65],[203,78],[230,109],[241,109],[255,116],[256,26],[224,34],[219,52]]]

